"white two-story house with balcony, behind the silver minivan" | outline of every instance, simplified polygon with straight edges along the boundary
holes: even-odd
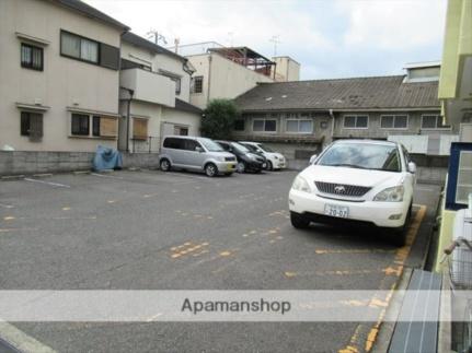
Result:
[[[194,71],[173,51],[122,36],[119,150],[158,152],[163,136],[199,134],[202,110],[189,104]]]

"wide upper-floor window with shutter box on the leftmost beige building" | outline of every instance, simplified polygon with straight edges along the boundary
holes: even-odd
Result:
[[[113,70],[119,69],[119,48],[66,31],[60,32],[60,55]]]

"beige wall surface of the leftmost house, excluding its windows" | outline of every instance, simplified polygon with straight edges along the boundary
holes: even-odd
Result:
[[[119,72],[60,56],[60,30],[119,47],[120,30],[51,1],[0,1],[0,146],[36,151],[94,151],[97,144],[116,148],[116,139],[70,136],[70,109],[118,113]],[[21,67],[16,33],[44,40],[44,70]],[[37,45],[41,46],[41,45]],[[49,107],[43,116],[44,136],[31,142],[20,134],[16,103]]]

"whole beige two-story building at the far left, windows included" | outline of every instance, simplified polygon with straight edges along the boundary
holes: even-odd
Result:
[[[0,149],[116,148],[127,30],[81,1],[0,1]]]

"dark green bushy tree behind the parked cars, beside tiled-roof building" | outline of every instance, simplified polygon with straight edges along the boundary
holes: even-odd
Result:
[[[230,99],[211,99],[202,118],[202,136],[215,139],[229,139],[234,120],[240,116],[234,102]]]

